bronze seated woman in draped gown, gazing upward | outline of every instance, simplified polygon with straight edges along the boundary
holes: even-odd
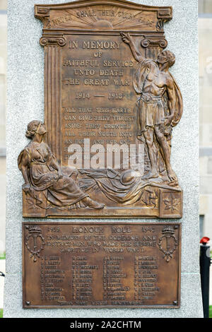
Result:
[[[81,204],[83,207],[104,208],[104,204],[93,201],[78,187],[76,170],[59,166],[49,146],[43,142],[46,132],[41,121],[28,124],[25,135],[32,141],[18,156],[18,167],[25,179],[25,194],[35,198],[41,208],[45,200],[59,208],[80,208]]]

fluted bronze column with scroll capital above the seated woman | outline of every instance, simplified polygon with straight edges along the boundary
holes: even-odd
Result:
[[[64,37],[42,37],[45,47],[45,124],[47,144],[58,160],[61,160],[59,131],[61,129],[61,47]]]

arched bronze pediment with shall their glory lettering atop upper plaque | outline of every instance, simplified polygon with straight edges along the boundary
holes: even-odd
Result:
[[[67,4],[35,5],[43,28],[59,30],[163,32],[172,7],[143,6],[130,1],[80,0]]]

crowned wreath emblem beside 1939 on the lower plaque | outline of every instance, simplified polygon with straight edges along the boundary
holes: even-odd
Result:
[[[25,245],[28,248],[28,251],[30,251],[31,257],[34,257],[33,261],[37,261],[37,257],[40,257],[40,251],[45,248],[45,239],[42,237],[42,230],[38,226],[25,226],[25,228],[28,230],[28,235],[25,238]],[[33,238],[33,246],[30,242],[30,238]],[[41,239],[41,243],[37,242],[37,238]],[[31,247],[32,246],[32,247]]]

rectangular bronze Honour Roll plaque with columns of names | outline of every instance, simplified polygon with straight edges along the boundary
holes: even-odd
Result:
[[[180,305],[179,223],[23,223],[23,307]]]

